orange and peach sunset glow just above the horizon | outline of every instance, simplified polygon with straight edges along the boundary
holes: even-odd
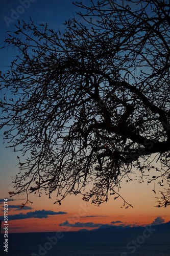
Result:
[[[88,189],[87,189],[88,191]],[[158,191],[158,189],[157,189]],[[166,208],[157,208],[157,200],[155,194],[152,191],[152,185],[147,186],[145,183],[139,184],[137,181],[131,183],[125,183],[120,190],[120,195],[133,205],[127,209],[123,207],[124,201],[119,198],[114,200],[114,196],[110,196],[107,203],[101,204],[99,207],[94,206],[91,202],[84,202],[82,195],[71,195],[65,198],[62,204],[54,204],[55,193],[52,199],[48,199],[47,196],[36,197],[31,195],[30,200],[33,204],[29,203],[26,206],[19,209],[22,203],[25,203],[23,198],[14,198],[14,201],[8,202],[9,216],[17,215],[18,219],[9,221],[9,232],[56,232],[56,231],[78,231],[80,229],[94,229],[98,228],[100,224],[114,225],[149,225],[153,221],[161,217],[164,222],[168,222],[169,218],[169,206]],[[4,198],[6,194],[4,193]],[[11,206],[11,208],[10,208]],[[15,207],[17,206],[17,208]],[[45,217],[39,216],[39,218],[23,219],[23,216],[29,212],[36,212],[42,210],[54,211],[56,215],[47,215]],[[58,214],[58,212],[64,212],[64,214]],[[66,212],[66,214],[65,214]],[[14,217],[13,217],[14,218]],[[3,219],[2,219],[3,220]],[[68,222],[75,224],[81,223],[81,227],[68,227],[60,226],[61,223]],[[93,223],[93,227],[87,226],[87,223]],[[99,224],[98,227],[95,224]],[[84,226],[83,226],[84,225]],[[3,232],[3,223],[2,223]]]

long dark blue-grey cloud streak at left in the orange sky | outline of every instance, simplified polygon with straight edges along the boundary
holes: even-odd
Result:
[[[27,214],[15,214],[15,215],[9,215],[8,220],[23,220],[23,219],[30,219],[30,218],[48,218],[48,215],[60,215],[60,214],[67,214],[65,211],[53,211],[53,210],[35,210],[35,211],[29,211]],[[1,216],[0,219],[3,219],[4,216]]]

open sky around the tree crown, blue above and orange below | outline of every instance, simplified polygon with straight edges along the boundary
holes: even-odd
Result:
[[[84,0],[85,1],[85,0]],[[88,1],[88,0],[86,0]],[[86,2],[85,1],[85,2]],[[1,0],[0,1],[0,44],[7,31],[14,31],[17,19],[29,20],[35,24],[47,23],[51,29],[64,29],[63,23],[76,11],[72,0]],[[13,49],[0,50],[0,70],[5,71],[10,61],[17,55]],[[137,181],[122,184],[121,195],[133,205],[125,209],[121,199],[109,197],[107,203],[100,207],[84,202],[81,195],[69,196],[59,206],[52,199],[42,195],[31,195],[29,203],[26,196],[9,197],[12,191],[12,178],[18,173],[18,159],[12,149],[3,144],[3,131],[0,131],[0,219],[4,215],[4,199],[8,199],[9,232],[45,232],[45,231],[77,231],[93,229],[103,224],[108,225],[149,225],[170,221],[169,207],[157,208],[154,184],[139,184]],[[137,174],[138,175],[138,174]],[[155,190],[158,192],[159,187]]]

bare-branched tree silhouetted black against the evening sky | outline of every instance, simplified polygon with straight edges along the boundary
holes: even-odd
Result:
[[[139,176],[170,204],[170,5],[120,3],[76,2],[63,34],[31,19],[8,32],[3,47],[18,55],[1,75],[1,128],[25,158],[11,196],[44,189],[55,203],[81,193],[100,205]]]

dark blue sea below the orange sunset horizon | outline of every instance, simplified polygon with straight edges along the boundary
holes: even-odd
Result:
[[[170,230],[9,233],[8,252],[4,240],[1,256],[170,256]]]

